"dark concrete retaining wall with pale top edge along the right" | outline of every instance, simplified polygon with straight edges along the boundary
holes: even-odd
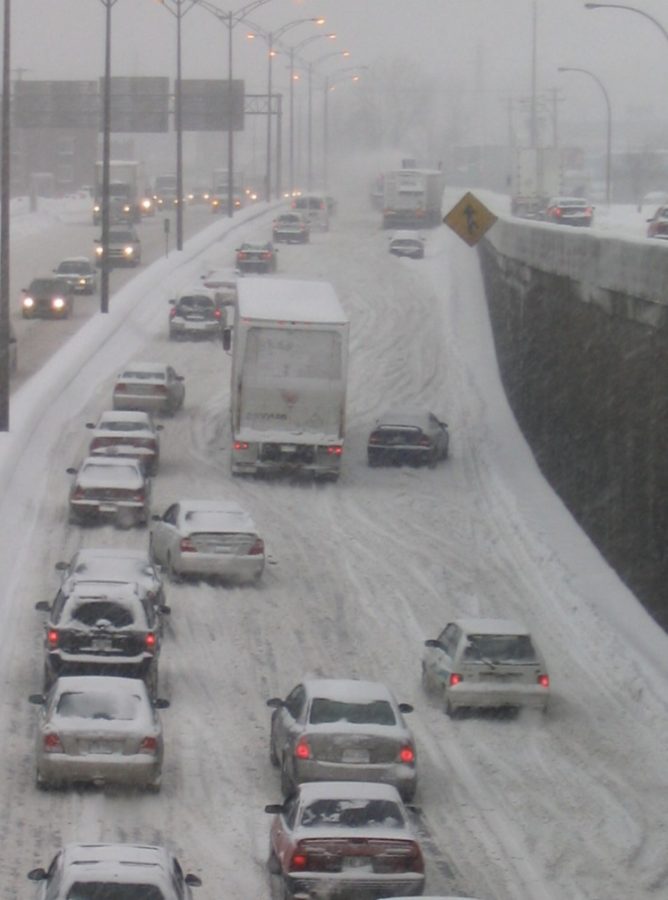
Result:
[[[501,219],[479,255],[539,465],[668,628],[668,245]]]

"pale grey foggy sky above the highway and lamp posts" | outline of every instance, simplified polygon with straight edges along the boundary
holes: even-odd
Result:
[[[167,2],[174,8],[174,0]],[[222,0],[216,5],[228,9]],[[238,0],[232,9],[243,5]],[[457,94],[476,110],[479,133],[471,135],[472,141],[502,141],[508,98],[530,93],[532,5],[533,0],[269,0],[250,15],[267,30],[324,15],[322,30],[336,32],[336,42],[318,39],[303,55],[313,60],[346,49],[351,56],[322,62],[322,72],[357,64],[373,70],[381,61],[404,59],[407,69],[434,76],[444,103]],[[668,29],[665,0],[634,0],[631,5]],[[12,7],[13,77],[95,79],[102,74],[101,0],[13,0]],[[201,7],[189,8],[189,0],[183,0],[182,8],[188,10],[182,18],[183,77],[226,77],[227,29]],[[587,68],[601,79],[616,125],[626,127],[629,116],[639,112],[665,124],[668,41],[651,22],[627,11],[588,11],[584,0],[537,0],[537,9],[537,88],[558,88],[562,121],[603,121],[605,116],[591,79],[557,72],[558,66],[571,66]],[[249,93],[262,93],[266,45],[248,41],[247,30],[243,24],[234,30],[234,75],[245,79]],[[282,40],[295,45],[317,30],[302,24]],[[117,0],[112,38],[112,74],[173,77],[176,20],[157,0]],[[276,58],[273,71],[275,90],[287,92],[285,56]],[[618,127],[618,149],[626,139]]]

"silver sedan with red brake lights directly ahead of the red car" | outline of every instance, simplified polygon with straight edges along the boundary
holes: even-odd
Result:
[[[272,697],[269,755],[287,796],[307,781],[377,781],[404,800],[417,787],[412,712],[377,681],[307,678],[285,700]]]

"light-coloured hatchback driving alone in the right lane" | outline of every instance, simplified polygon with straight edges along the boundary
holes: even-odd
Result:
[[[550,677],[524,625],[456,619],[425,646],[422,683],[443,697],[448,715],[473,708],[547,709]]]

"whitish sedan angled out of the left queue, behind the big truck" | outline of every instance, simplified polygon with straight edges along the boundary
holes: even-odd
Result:
[[[180,500],[153,516],[150,553],[173,581],[184,575],[257,581],[265,562],[255,523],[230,500]]]

